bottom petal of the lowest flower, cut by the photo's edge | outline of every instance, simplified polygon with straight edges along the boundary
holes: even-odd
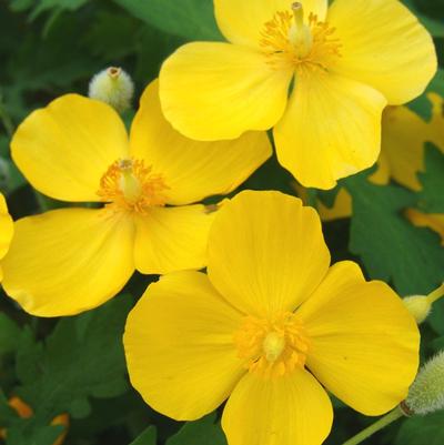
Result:
[[[306,371],[264,380],[245,375],[226,403],[222,427],[230,445],[321,445],[333,409]]]

